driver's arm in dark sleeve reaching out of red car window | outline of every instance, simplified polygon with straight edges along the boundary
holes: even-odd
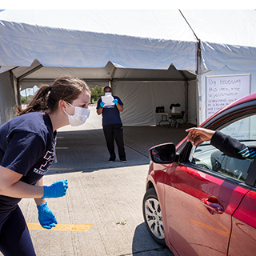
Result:
[[[221,150],[227,156],[238,159],[249,158],[253,160],[256,152],[245,144],[239,142],[236,138],[231,138],[229,135],[223,134],[219,130],[209,130],[205,128],[190,128],[187,141],[193,146],[198,146],[202,142],[210,141],[212,146]]]

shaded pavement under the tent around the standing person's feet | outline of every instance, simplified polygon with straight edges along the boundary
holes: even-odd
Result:
[[[118,159],[109,163],[109,153],[102,129],[60,131],[57,137],[56,155],[58,162],[54,163],[48,174],[71,171],[93,172],[109,168],[125,166],[148,165],[150,158],[148,150],[151,146],[163,142],[177,144],[186,137],[184,124],[180,128],[167,126],[124,127],[124,140],[127,162]]]

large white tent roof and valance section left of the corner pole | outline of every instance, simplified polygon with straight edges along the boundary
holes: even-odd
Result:
[[[0,12],[0,66],[196,70],[196,39],[178,10],[105,11]]]

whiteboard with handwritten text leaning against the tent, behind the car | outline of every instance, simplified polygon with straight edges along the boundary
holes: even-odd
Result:
[[[250,74],[206,76],[206,118],[250,94]]]

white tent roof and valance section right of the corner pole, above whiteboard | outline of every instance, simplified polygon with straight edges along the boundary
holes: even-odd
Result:
[[[202,70],[256,70],[256,10],[182,10],[201,42]]]

